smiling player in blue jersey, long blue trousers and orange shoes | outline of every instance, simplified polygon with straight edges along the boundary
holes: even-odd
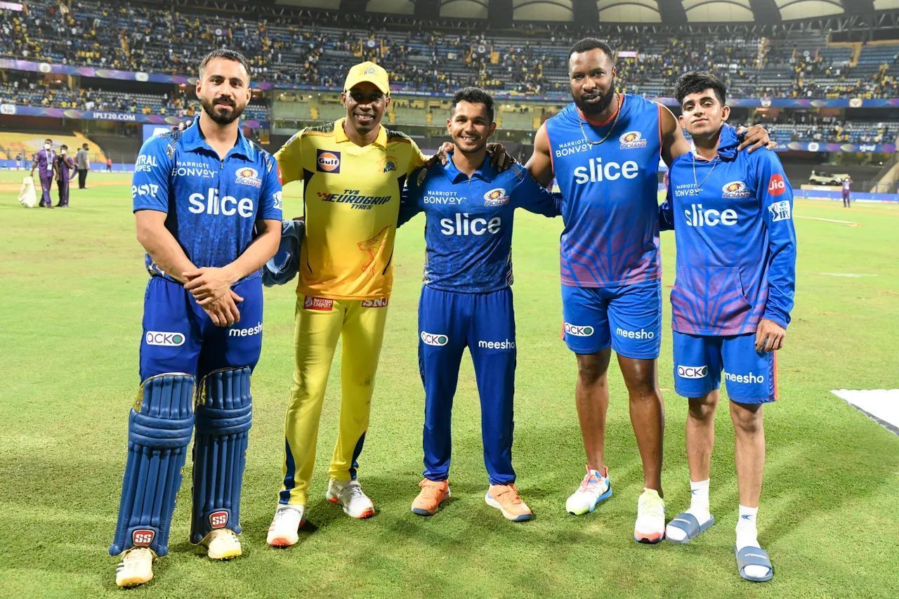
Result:
[[[409,177],[402,224],[426,220],[424,284],[418,305],[419,367],[424,386],[424,479],[414,514],[436,514],[449,497],[450,424],[459,362],[475,365],[481,434],[490,487],[485,501],[513,521],[530,520],[512,469],[515,315],[512,308],[512,219],[517,208],[556,216],[552,194],[521,165],[502,173],[487,160],[494,101],[467,87],[453,98],[447,130],[455,151],[446,165]]]

